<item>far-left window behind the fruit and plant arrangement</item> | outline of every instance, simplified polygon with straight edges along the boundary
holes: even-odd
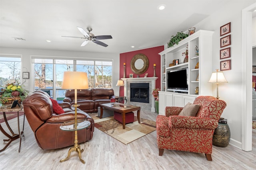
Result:
[[[21,56],[0,55],[0,87],[10,82],[21,84]]]

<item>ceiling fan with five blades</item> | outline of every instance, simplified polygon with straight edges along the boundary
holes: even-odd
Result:
[[[81,44],[81,46],[85,46],[89,41],[92,41],[98,45],[102,45],[103,47],[108,47],[107,44],[101,42],[101,41],[98,41],[99,39],[112,39],[112,36],[111,35],[98,35],[98,36],[94,36],[93,33],[91,33],[92,31],[92,28],[90,27],[87,27],[87,31],[84,31],[83,28],[81,27],[77,27],[78,30],[84,35],[84,37],[72,37],[72,36],[62,36],[62,37],[72,37],[72,38],[82,38],[82,39],[85,39],[85,41]]]

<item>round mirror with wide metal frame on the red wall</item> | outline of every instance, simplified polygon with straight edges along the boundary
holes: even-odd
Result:
[[[148,57],[144,54],[136,54],[132,57],[131,69],[135,74],[143,74],[148,69]]]

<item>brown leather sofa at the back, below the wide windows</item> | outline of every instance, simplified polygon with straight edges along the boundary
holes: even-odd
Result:
[[[77,104],[80,105],[79,109],[86,113],[98,112],[100,104],[109,103],[110,98],[115,98],[114,90],[111,88],[91,88],[77,90]],[[74,105],[75,91],[66,90],[63,102],[70,102]]]

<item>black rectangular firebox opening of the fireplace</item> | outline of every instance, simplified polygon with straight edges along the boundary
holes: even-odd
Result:
[[[149,103],[149,83],[130,83],[130,101]]]

